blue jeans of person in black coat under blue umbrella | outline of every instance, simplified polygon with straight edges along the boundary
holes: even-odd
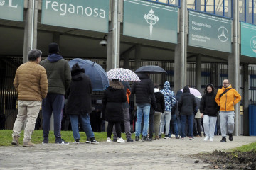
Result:
[[[70,122],[71,122],[71,127],[73,131],[73,137],[75,140],[80,139],[80,134],[79,134],[79,129],[78,129],[78,118],[81,118],[82,122],[82,129],[85,131],[85,134],[88,139],[91,139],[94,137],[94,134],[92,132],[92,127],[90,125],[90,115],[84,114],[84,115],[70,115]]]

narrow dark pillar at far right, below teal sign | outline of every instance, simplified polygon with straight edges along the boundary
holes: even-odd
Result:
[[[243,135],[249,136],[249,66],[243,65]]]

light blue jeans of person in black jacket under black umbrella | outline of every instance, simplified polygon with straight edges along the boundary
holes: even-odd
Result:
[[[142,116],[144,118],[142,135],[147,136],[147,131],[149,128],[149,112],[150,112],[149,103],[145,103],[145,104],[137,103],[137,120],[136,120],[135,136],[139,137],[139,134],[141,132]]]

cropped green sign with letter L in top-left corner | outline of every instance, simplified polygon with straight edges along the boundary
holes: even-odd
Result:
[[[0,0],[0,19],[23,21],[24,0]]]

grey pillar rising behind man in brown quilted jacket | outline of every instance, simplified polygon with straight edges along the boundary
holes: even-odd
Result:
[[[28,0],[28,8],[25,10],[25,28],[23,45],[23,63],[28,62],[28,52],[36,48],[38,21],[38,1]]]

